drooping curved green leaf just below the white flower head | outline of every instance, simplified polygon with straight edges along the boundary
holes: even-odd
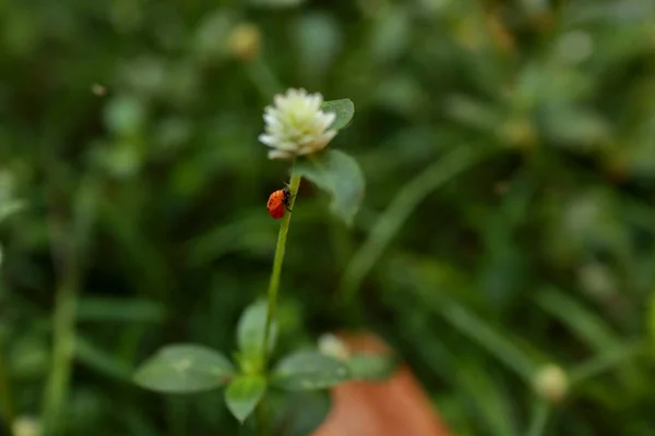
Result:
[[[332,197],[332,213],[353,223],[366,186],[357,160],[340,150],[325,150],[299,160],[295,172],[326,191]]]

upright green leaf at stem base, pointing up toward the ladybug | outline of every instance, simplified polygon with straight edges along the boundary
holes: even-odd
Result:
[[[258,301],[249,305],[239,319],[237,326],[237,341],[241,351],[242,366],[251,363],[259,364],[262,360],[262,344],[266,329],[266,315],[269,307],[265,301]],[[277,322],[271,323],[269,337],[269,352],[273,351],[277,339]]]

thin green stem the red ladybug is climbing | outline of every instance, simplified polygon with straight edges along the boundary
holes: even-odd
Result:
[[[293,168],[293,166],[291,166]],[[294,210],[294,205],[296,204],[296,194],[298,193],[298,187],[300,186],[300,175],[295,175],[291,170],[291,180],[289,183],[289,209]],[[275,319],[275,311],[277,307],[277,294],[279,292],[279,277],[282,275],[282,264],[284,262],[284,252],[286,247],[286,239],[289,232],[289,223],[291,221],[291,213],[287,211],[284,217],[282,217],[282,222],[279,223],[279,233],[277,233],[277,246],[275,247],[275,257],[273,259],[273,271],[271,272],[271,282],[269,283],[269,305],[266,311],[266,325],[264,327],[264,341],[262,343],[262,367],[267,373],[267,364],[269,364],[269,342],[271,335],[271,327],[273,325],[273,319]],[[261,436],[269,435],[269,415],[266,408],[266,397],[262,398],[260,403],[258,404],[258,421],[259,421],[259,433]]]

